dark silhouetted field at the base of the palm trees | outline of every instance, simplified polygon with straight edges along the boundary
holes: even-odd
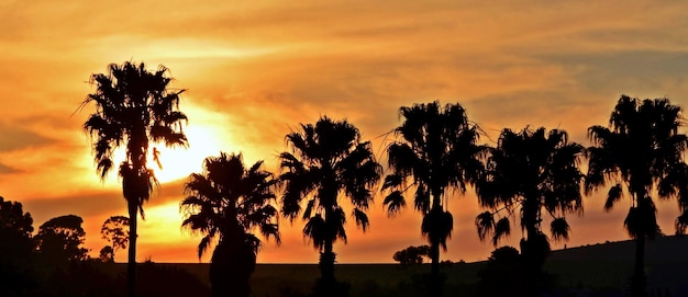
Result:
[[[562,290],[591,290],[622,296],[633,272],[634,243],[608,242],[554,251],[545,264]],[[210,286],[207,263],[155,263],[156,266],[188,272]],[[115,264],[110,273],[124,273]],[[475,296],[478,272],[486,262],[446,263],[444,296]],[[648,292],[654,296],[688,296],[688,237],[664,237],[647,242]],[[403,267],[399,264],[337,264],[339,281],[351,284],[351,296],[422,296],[422,275],[430,264]],[[320,276],[317,264],[258,264],[252,289],[256,297],[303,296],[312,292]],[[182,284],[168,284],[169,286]],[[666,294],[669,295],[666,295]],[[661,294],[661,295],[658,295]]]

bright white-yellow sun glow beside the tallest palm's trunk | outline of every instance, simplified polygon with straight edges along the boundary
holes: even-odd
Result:
[[[155,148],[158,151],[160,167],[155,160],[148,158],[148,168],[155,172],[155,178],[160,183],[186,179],[191,173],[202,171],[203,160],[220,153],[221,140],[218,139],[211,127],[192,126],[185,129],[189,147],[168,148],[164,144],[152,145],[151,152]]]

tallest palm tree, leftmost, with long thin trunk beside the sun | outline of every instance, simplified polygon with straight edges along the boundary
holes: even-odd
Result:
[[[167,68],[159,66],[149,72],[144,64],[131,61],[111,64],[108,73],[91,76],[96,92],[89,94],[80,108],[96,105],[96,112],[84,124],[93,144],[95,161],[101,179],[113,168],[113,153],[125,148],[120,163],[122,192],[131,218],[129,232],[127,295],[134,296],[136,272],[136,217],[145,219],[143,204],[157,183],[148,168],[148,157],[157,161],[157,150],[149,151],[151,142],[167,147],[186,147],[187,138],[181,128],[187,116],[179,112],[179,94],[184,90],[169,90],[171,78]]]

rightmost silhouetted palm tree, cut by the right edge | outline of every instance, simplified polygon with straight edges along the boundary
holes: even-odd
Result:
[[[633,296],[645,296],[645,238],[658,232],[653,195],[678,195],[684,209],[688,202],[688,170],[684,161],[688,138],[678,133],[683,123],[681,108],[668,99],[640,101],[622,95],[608,127],[588,128],[593,146],[588,148],[586,191],[591,193],[611,182],[606,210],[623,196],[631,199],[624,226],[635,239]],[[677,219],[679,231],[684,219]]]

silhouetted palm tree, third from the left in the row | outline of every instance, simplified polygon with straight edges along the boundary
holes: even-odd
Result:
[[[346,215],[340,198],[351,201],[356,225],[365,231],[369,225],[365,210],[373,201],[370,187],[380,179],[381,165],[375,160],[370,141],[362,141],[358,128],[346,119],[325,116],[315,125],[300,126],[286,137],[292,151],[279,156],[285,171],[280,175],[285,185],[281,212],[291,221],[302,213],[307,220],[303,235],[320,250],[321,293],[332,296],[336,285],[333,244],[337,239],[346,242]],[[304,199],[308,203],[301,208]]]

